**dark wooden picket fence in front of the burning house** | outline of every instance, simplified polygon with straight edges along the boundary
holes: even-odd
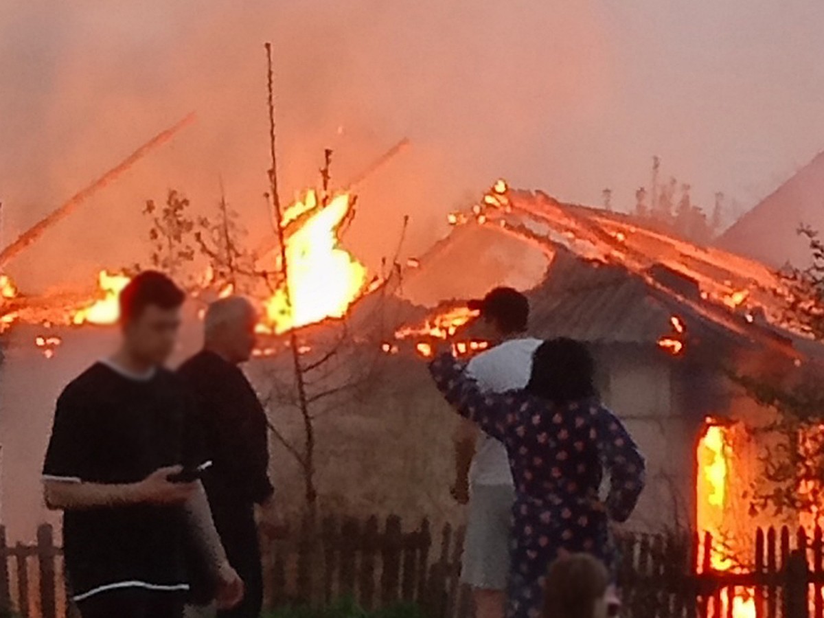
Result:
[[[706,536],[625,536],[619,579],[628,618],[824,618],[824,535],[770,528],[756,533],[747,566],[714,570]],[[404,531],[379,522],[326,518],[264,548],[268,606],[352,597],[366,609],[417,602],[432,618],[469,618],[459,583],[463,531],[437,534],[428,521]],[[696,572],[697,571],[697,572]],[[0,617],[72,618],[63,560],[51,527],[35,545],[7,545],[0,527]],[[737,600],[736,600],[737,599]],[[13,614],[12,614],[13,615]]]

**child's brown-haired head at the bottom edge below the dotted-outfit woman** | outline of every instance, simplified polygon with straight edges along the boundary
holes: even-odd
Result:
[[[546,577],[544,618],[606,618],[609,573],[588,554],[561,556]]]

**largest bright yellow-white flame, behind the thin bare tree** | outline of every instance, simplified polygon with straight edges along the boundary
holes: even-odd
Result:
[[[349,194],[335,196],[328,206],[318,206],[314,191],[283,213],[284,222],[310,216],[287,236],[288,291],[279,289],[265,302],[265,320],[270,330],[289,329],[343,317],[363,291],[366,268],[339,246],[339,227],[349,216],[353,202]]]

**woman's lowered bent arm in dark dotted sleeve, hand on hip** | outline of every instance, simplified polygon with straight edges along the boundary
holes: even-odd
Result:
[[[644,456],[615,414],[606,408],[597,414],[598,454],[610,475],[606,513],[615,522],[625,522],[644,489]]]

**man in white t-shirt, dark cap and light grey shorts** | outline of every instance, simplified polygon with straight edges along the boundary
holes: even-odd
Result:
[[[532,355],[541,339],[527,338],[529,301],[512,288],[495,288],[471,302],[494,345],[472,358],[468,372],[482,390],[506,392],[527,386]],[[512,472],[503,443],[469,421],[455,435],[456,482],[452,495],[469,504],[461,582],[472,588],[476,618],[503,618],[509,572]]]

